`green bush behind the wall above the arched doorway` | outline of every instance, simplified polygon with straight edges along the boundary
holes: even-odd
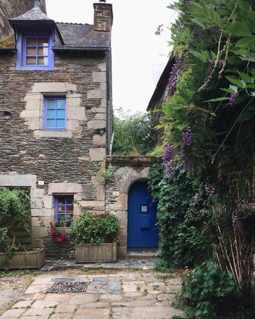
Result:
[[[158,143],[155,121],[148,114],[128,115],[119,111],[114,117],[113,155],[146,155]]]

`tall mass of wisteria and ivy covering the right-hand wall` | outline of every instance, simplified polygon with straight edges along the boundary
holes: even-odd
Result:
[[[255,213],[250,205],[254,203],[255,3],[179,0],[169,8],[179,17],[170,28],[170,57],[175,64],[157,126],[165,132],[164,173],[157,167],[158,173],[152,168],[150,174],[152,193],[159,200],[161,258],[166,266],[184,265],[189,260],[185,240],[192,251],[193,238],[202,247],[208,237],[218,271],[231,273],[239,287],[245,280],[248,287],[253,230],[243,231],[240,217]],[[249,224],[254,225],[252,220]],[[174,254],[181,260],[173,259]],[[195,254],[192,251],[193,258]],[[186,283],[185,289],[190,288]],[[208,315],[209,304],[199,301],[197,312],[189,317],[214,317]]]

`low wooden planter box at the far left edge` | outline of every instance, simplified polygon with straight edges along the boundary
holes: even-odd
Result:
[[[16,252],[12,259],[6,260],[5,253],[0,253],[0,270],[8,269],[40,269],[45,264],[44,248],[32,252]],[[3,260],[4,259],[4,260]]]

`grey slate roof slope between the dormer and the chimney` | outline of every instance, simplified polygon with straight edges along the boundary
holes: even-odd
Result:
[[[110,47],[110,32],[93,30],[91,24],[60,23],[57,27],[66,46]]]

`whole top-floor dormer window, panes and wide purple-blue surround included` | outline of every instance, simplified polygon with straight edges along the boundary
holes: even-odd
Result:
[[[18,34],[17,70],[54,70],[53,35]]]

